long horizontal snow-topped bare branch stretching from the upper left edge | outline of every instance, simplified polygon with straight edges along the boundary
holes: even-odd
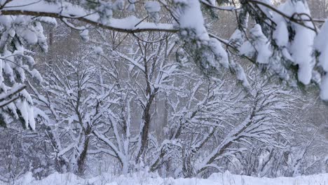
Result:
[[[108,11],[111,11],[111,9]],[[90,25],[126,33],[178,31],[172,24],[144,22],[142,19],[135,18],[134,16],[121,19],[108,18],[108,22],[102,22],[102,15],[97,11],[88,11],[88,9],[82,6],[66,1],[53,3],[44,0],[12,0],[1,8],[1,15],[31,15],[81,20]]]

